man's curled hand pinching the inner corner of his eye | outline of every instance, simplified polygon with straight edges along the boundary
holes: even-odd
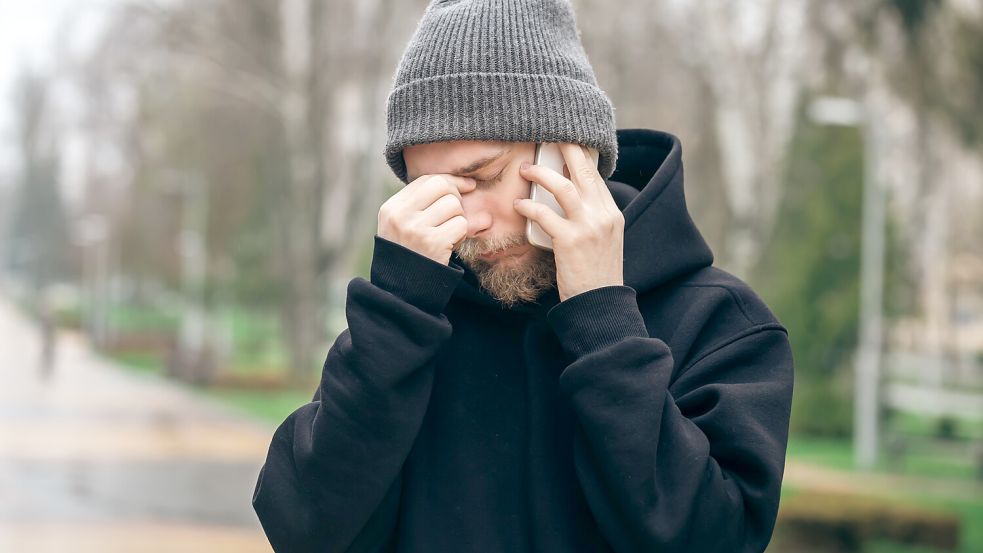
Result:
[[[468,234],[461,193],[474,187],[467,177],[421,175],[379,208],[377,234],[447,265]]]

